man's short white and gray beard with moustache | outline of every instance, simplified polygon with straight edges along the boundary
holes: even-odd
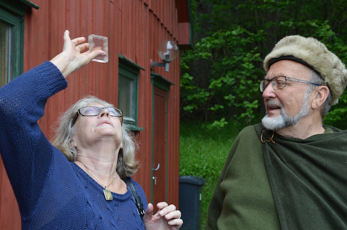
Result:
[[[275,131],[275,130],[283,129],[288,126],[295,125],[298,121],[300,121],[301,118],[303,118],[304,116],[308,114],[310,110],[310,106],[309,106],[310,95],[311,95],[311,92],[306,91],[303,98],[301,110],[294,117],[289,117],[286,114],[286,111],[283,108],[283,105],[281,102],[269,100],[268,105],[270,104],[270,105],[279,106],[281,108],[281,114],[277,117],[269,117],[269,114],[266,114],[261,120],[261,122],[263,123],[263,126],[267,130]]]

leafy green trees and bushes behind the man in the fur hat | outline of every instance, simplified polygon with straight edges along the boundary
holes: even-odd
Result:
[[[209,129],[229,120],[239,127],[258,123],[264,113],[258,90],[265,75],[262,58],[287,35],[317,38],[347,63],[347,1],[211,1],[211,13],[193,10],[194,30],[207,36],[196,41],[195,50],[181,54],[181,119],[206,121]],[[195,0],[192,3],[197,7]],[[206,20],[211,26],[200,24]],[[208,87],[199,86],[190,69],[199,60],[211,65]],[[347,128],[346,99],[344,92],[325,124]]]

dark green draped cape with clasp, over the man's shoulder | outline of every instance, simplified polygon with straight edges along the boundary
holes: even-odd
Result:
[[[265,166],[282,230],[347,229],[347,131],[324,126],[324,134],[298,139],[254,127],[266,140]]]

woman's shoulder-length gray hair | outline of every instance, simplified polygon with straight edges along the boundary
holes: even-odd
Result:
[[[74,135],[71,122],[79,108],[92,103],[102,104],[105,107],[115,107],[113,104],[99,99],[98,97],[86,96],[73,104],[58,118],[56,134],[52,140],[52,144],[57,147],[69,161],[74,162],[77,158],[77,150],[71,144]],[[131,177],[139,167],[139,162],[135,159],[135,151],[138,148],[138,144],[125,124],[122,124],[121,129],[123,148],[120,149],[118,153],[117,174],[120,178],[125,178]]]

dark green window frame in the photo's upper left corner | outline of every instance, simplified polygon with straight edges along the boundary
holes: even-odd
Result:
[[[29,0],[0,0],[0,22],[7,26],[9,32],[6,44],[8,47],[6,58],[9,63],[8,74],[5,76],[6,83],[24,72],[24,15],[27,5],[35,9],[39,8]],[[4,71],[1,66],[1,72]]]

